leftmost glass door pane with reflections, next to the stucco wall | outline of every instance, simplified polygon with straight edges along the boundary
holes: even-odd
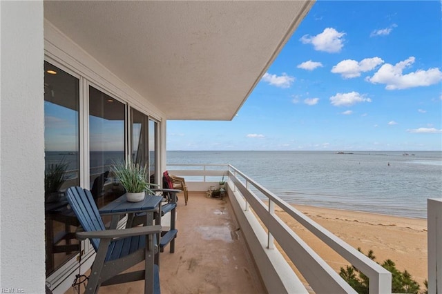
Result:
[[[64,191],[79,185],[79,79],[44,63],[46,275],[79,251]],[[51,72],[51,73],[49,73]]]

